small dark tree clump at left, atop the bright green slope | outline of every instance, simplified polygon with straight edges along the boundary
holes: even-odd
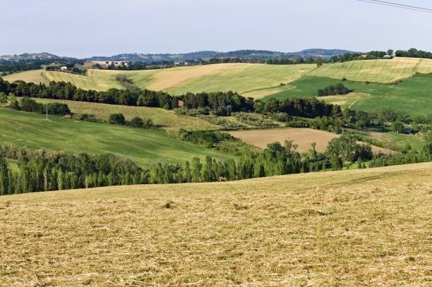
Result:
[[[66,116],[71,114],[71,110],[69,109],[67,104],[60,103],[48,103],[48,104],[40,104],[37,103],[34,99],[30,99],[29,97],[23,97],[21,102],[13,97],[11,99],[11,109],[16,109],[17,111],[28,111],[30,113],[39,113],[45,114],[48,113],[50,115],[56,116]]]

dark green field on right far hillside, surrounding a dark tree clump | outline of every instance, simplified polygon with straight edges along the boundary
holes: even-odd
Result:
[[[329,85],[343,83],[349,90],[354,90],[354,101],[349,98],[352,94],[338,97],[322,97],[326,102],[343,102],[343,107],[360,109],[363,111],[373,111],[378,107],[390,107],[399,111],[415,115],[425,115],[432,113],[432,75],[417,74],[412,78],[403,80],[396,85],[366,84],[364,82],[354,82],[346,80],[341,82],[332,78],[306,76],[294,83],[284,87],[284,90],[271,96],[277,99],[287,97],[316,97],[318,89],[323,89]],[[359,93],[363,94],[359,97]]]

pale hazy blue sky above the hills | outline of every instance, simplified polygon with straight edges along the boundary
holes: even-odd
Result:
[[[432,8],[432,1],[395,0]],[[1,1],[0,54],[270,49],[432,51],[432,13],[356,0]]]

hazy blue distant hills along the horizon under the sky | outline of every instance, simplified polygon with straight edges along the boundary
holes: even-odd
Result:
[[[184,54],[119,54],[115,56],[93,56],[86,60],[89,61],[186,61],[210,58],[240,58],[251,60],[268,60],[268,59],[295,59],[296,57],[322,56],[329,58],[342,54],[355,54],[354,51],[340,49],[307,49],[298,52],[280,52],[267,50],[237,50],[237,51],[196,51]]]

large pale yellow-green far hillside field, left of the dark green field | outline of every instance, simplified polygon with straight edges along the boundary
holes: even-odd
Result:
[[[108,90],[109,88],[122,88],[115,78],[118,74],[124,74],[139,87],[164,90],[173,94],[228,90],[246,93],[263,87],[277,86],[280,83],[290,83],[311,72],[314,68],[316,65],[313,64],[276,66],[222,63],[146,71],[90,70],[86,76],[37,70],[6,75],[3,78],[10,82],[24,80],[33,83],[63,80],[85,90]]]

